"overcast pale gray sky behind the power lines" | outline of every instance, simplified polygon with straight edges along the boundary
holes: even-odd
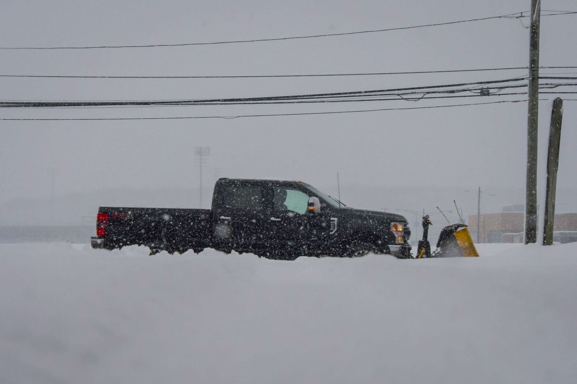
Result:
[[[353,32],[529,10],[508,1],[10,1],[0,46],[170,44]],[[577,10],[544,0],[544,10]],[[543,17],[541,65],[577,65],[577,16]],[[528,23],[524,19],[525,24]],[[526,66],[529,30],[495,19],[404,31],[212,46],[0,50],[1,74],[200,76],[359,73]],[[571,72],[577,70],[542,70]],[[2,100],[144,100],[276,96],[448,84],[526,70],[261,79],[0,78]],[[567,75],[571,76],[571,75]],[[567,98],[572,95],[567,95]],[[8,109],[1,118],[107,118],[276,114],[421,107],[524,99],[373,101],[280,106]],[[553,99],[554,95],[543,95]],[[551,101],[540,104],[546,145]],[[559,187],[577,189],[577,101],[566,101]],[[99,189],[197,186],[193,147],[211,146],[208,172],[298,178],[316,186],[524,187],[526,103],[357,114],[237,119],[0,122],[0,203]],[[544,164],[544,159],[541,165]],[[212,181],[212,179],[209,179]]]

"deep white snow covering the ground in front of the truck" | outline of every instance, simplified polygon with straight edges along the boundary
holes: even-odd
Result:
[[[398,260],[0,244],[0,382],[574,383],[577,244]]]

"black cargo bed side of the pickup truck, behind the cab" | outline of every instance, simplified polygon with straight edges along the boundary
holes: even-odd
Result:
[[[98,213],[108,214],[104,236],[98,236],[106,249],[138,244],[181,253],[211,246],[209,209],[102,206]]]

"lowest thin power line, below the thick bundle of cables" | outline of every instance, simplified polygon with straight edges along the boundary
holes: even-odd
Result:
[[[93,118],[93,119],[0,119],[0,121],[103,121],[103,120],[172,120],[172,119],[236,119],[246,117],[266,117],[266,116],[302,116],[302,115],[329,115],[329,114],[349,114],[358,112],[376,112],[376,111],[399,111],[399,110],[424,110],[431,108],[449,108],[465,106],[481,106],[485,104],[499,103],[520,103],[525,100],[500,100],[489,101],[487,103],[470,103],[470,104],[451,104],[448,106],[430,106],[430,107],[408,107],[408,108],[381,108],[378,110],[361,110],[361,111],[336,111],[336,112],[302,112],[296,114],[267,114],[267,115],[237,115],[237,116],[192,116],[192,117],[163,117],[163,118]]]

